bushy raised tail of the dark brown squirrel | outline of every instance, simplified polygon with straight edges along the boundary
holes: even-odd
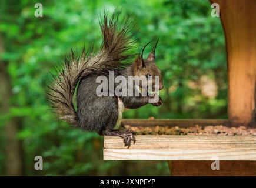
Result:
[[[131,22],[124,19],[119,26],[120,13],[121,11],[115,11],[112,16],[104,13],[104,18],[99,22],[103,42],[97,53],[83,49],[81,55],[76,56],[71,49],[69,56],[64,58],[64,66],[55,69],[58,75],[52,75],[54,81],[48,86],[50,91],[47,98],[59,118],[72,125],[77,125],[73,95],[79,80],[91,74],[100,75],[109,70],[121,69],[124,67],[121,61],[132,56],[126,54],[135,42],[131,41],[134,34],[129,34]]]

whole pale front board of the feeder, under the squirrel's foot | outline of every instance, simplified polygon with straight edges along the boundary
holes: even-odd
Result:
[[[129,149],[104,137],[104,160],[256,160],[256,136],[138,135]]]

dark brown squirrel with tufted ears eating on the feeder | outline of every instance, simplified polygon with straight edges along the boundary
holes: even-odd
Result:
[[[159,76],[159,90],[163,88],[163,84],[161,71],[155,65],[157,43],[147,59],[143,58],[143,51],[148,43],[133,63],[123,63],[133,56],[127,55],[126,52],[132,48],[134,41],[131,42],[131,38],[134,33],[131,33],[132,22],[128,19],[124,19],[123,24],[118,25],[120,13],[115,11],[112,16],[104,14],[102,21],[99,21],[103,42],[98,53],[93,53],[92,50],[85,52],[83,49],[81,55],[76,56],[71,49],[69,56],[64,58],[64,67],[55,69],[58,76],[53,75],[54,82],[48,86],[50,89],[48,99],[59,119],[100,135],[120,136],[124,139],[125,146],[129,147],[131,141],[135,143],[135,133],[132,130],[113,130],[123,107],[139,108],[147,105],[149,99],[154,98],[155,95],[142,96],[140,93],[139,96],[97,96],[96,89],[99,85],[96,82],[97,76],[108,76],[109,71],[114,71],[115,76],[122,75],[125,78],[136,75],[147,78]],[[73,96],[77,85],[76,111]],[[110,93],[111,90],[108,92]],[[152,105],[162,105],[161,98]]]

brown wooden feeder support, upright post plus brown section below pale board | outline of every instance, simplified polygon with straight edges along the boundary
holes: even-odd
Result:
[[[228,60],[228,119],[231,126],[255,126],[256,1],[210,0],[220,5]],[[168,162],[173,176],[256,176],[255,162]]]

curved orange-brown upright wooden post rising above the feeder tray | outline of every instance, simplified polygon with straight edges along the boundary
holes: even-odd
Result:
[[[256,126],[256,1],[211,0],[220,5],[228,60],[228,119]]]

